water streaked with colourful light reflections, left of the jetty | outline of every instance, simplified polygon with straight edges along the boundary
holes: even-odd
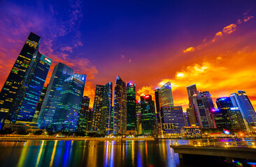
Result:
[[[0,142],[0,166],[179,166],[171,141]]]

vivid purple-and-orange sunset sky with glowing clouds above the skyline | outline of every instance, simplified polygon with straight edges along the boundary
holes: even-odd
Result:
[[[137,98],[171,81],[175,106],[197,84],[216,97],[245,90],[256,107],[256,1],[0,1],[0,87],[30,32],[39,51],[96,84],[118,74]]]

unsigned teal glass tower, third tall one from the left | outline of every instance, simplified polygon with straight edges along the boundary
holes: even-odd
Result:
[[[55,65],[37,120],[40,129],[52,130],[52,120],[55,116],[62,86],[65,79],[71,77],[72,74],[73,68],[63,63],[57,63],[57,65]]]

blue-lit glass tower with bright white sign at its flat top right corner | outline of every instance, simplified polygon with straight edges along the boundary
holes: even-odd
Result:
[[[85,74],[73,74],[65,79],[52,126],[62,132],[76,132],[85,89]]]

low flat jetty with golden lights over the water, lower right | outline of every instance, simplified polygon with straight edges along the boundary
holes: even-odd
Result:
[[[198,154],[208,156],[225,157],[227,163],[232,163],[232,158],[256,160],[256,141],[223,141],[205,142],[194,141],[187,145],[179,145],[173,142],[170,145],[180,159],[183,154]]]

